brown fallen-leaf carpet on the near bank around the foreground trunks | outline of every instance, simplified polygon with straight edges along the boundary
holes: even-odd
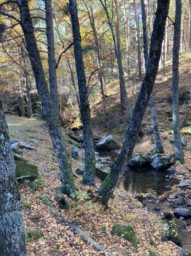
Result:
[[[27,119],[16,116],[7,116],[11,137],[29,142],[38,139],[35,150],[23,149],[23,156],[29,163],[35,164],[40,170],[40,179],[36,182],[36,188],[28,185],[20,185],[20,194],[23,203],[23,216],[27,230],[40,230],[43,236],[38,240],[28,240],[27,251],[29,255],[102,255],[95,251],[93,246],[86,244],[80,235],[76,235],[68,225],[60,222],[50,208],[46,207],[40,200],[40,195],[46,194],[48,199],[63,218],[73,222],[91,236],[98,244],[102,245],[112,255],[152,255],[151,251],[160,255],[180,255],[179,247],[173,242],[162,241],[160,218],[152,214],[146,207],[134,199],[134,194],[128,194],[125,190],[117,188],[115,199],[109,202],[109,209],[105,210],[98,201],[87,201],[87,190],[89,187],[82,185],[81,177],[75,177],[76,188],[78,188],[78,201],[68,200],[69,209],[60,209],[57,204],[57,195],[60,193],[59,169],[55,161],[53,146],[50,142],[48,129],[43,121],[30,120],[31,125],[25,126]],[[164,136],[171,136],[165,135]],[[164,138],[163,138],[164,139]],[[171,151],[171,143],[164,146]],[[149,138],[145,138],[141,144],[147,144],[152,149],[153,144]],[[190,136],[188,136],[188,146]],[[71,152],[72,145],[68,145]],[[82,153],[83,154],[83,153]],[[186,164],[189,164],[189,154],[186,153]],[[71,157],[72,159],[72,157]],[[73,170],[80,164],[78,160],[72,159]],[[179,167],[179,175],[188,170]],[[189,172],[188,172],[189,175]],[[185,177],[185,175],[184,175]],[[97,179],[97,186],[100,181]],[[91,188],[95,198],[97,188]],[[27,205],[28,203],[28,205]],[[115,223],[130,223],[134,227],[138,238],[138,246],[132,244],[117,235],[111,234]]]

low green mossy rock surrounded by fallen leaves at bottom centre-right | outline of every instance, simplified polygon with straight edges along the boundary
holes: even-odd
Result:
[[[130,224],[115,224],[111,230],[113,235],[119,235],[125,238],[126,240],[132,242],[132,246],[137,247],[137,238],[136,233],[132,225]]]

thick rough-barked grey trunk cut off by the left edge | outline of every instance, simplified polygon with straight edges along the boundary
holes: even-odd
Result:
[[[0,103],[1,104],[1,103]],[[8,125],[0,106],[0,255],[24,256],[25,229]]]

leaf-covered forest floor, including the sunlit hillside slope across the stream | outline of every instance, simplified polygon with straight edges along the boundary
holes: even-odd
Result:
[[[182,59],[182,62],[180,68],[180,87],[183,88],[183,97],[185,97],[188,89],[190,90],[190,56]],[[164,78],[160,77],[162,75],[158,76],[154,96],[165,153],[173,153],[173,144],[171,143],[171,140],[173,140],[171,133],[171,71],[166,71],[166,73],[168,75]],[[136,84],[136,90],[138,90],[138,84]],[[92,118],[93,133],[101,137],[109,133],[115,133],[115,136],[122,142],[126,128],[124,125],[120,125],[119,111],[118,114],[115,114],[115,110],[119,110],[119,104],[117,107],[113,104],[115,100],[119,99],[117,82],[115,81],[114,84],[111,84],[110,88],[106,88],[106,92],[108,94],[110,92],[113,93],[113,96],[106,98],[108,117],[103,117],[102,104],[98,103],[96,116],[94,113]],[[185,103],[181,105],[180,112],[182,113],[181,118],[183,118],[186,112]],[[191,117],[189,115],[189,113],[186,114],[186,120],[183,120],[187,126],[181,130],[183,131],[183,138],[186,138],[188,142],[188,146],[184,149],[186,168],[181,164],[176,164],[175,166],[177,177],[188,181],[190,181],[189,166],[191,162],[191,125],[189,125]],[[46,194],[60,216],[81,227],[112,255],[147,256],[152,255],[151,251],[158,252],[161,256],[181,255],[177,245],[173,242],[164,242],[162,240],[160,214],[153,214],[134,198],[135,194],[127,193],[121,188],[115,190],[115,198],[111,199],[109,208],[105,210],[99,202],[87,202],[85,200],[89,187],[82,185],[82,178],[80,176],[75,177],[79,200],[69,201],[70,207],[68,210],[60,209],[56,200],[61,185],[58,177],[59,168],[56,164],[46,123],[42,120],[29,120],[10,115],[6,116],[6,118],[12,139],[19,139],[25,142],[38,139],[38,142],[35,144],[35,150],[23,149],[23,156],[29,160],[29,163],[38,166],[40,179],[44,181],[44,184],[35,190],[32,190],[25,184],[20,185],[21,199],[27,201],[30,205],[30,208],[23,205],[25,228],[31,230],[38,229],[43,233],[42,238],[27,242],[29,255],[102,255],[102,253],[95,251],[93,246],[86,244],[80,235],[75,234],[68,225],[60,222],[51,209],[46,207],[40,200],[40,195],[42,194]],[[148,153],[154,148],[149,125],[149,110],[143,120],[142,130],[143,136],[138,141],[134,153]],[[71,148],[72,145],[68,144],[69,152],[71,152]],[[83,155],[83,150],[81,150],[80,154]],[[73,170],[76,170],[81,164],[80,161],[72,157],[71,161]],[[91,188],[95,196],[100,185],[99,179],[96,179],[96,184],[95,188]],[[115,223],[130,223],[134,227],[138,238],[137,248],[134,248],[127,240],[111,234],[111,229]]]

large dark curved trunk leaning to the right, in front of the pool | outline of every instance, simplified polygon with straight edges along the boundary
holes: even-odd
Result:
[[[99,190],[101,201],[104,205],[107,205],[108,199],[110,198],[111,194],[113,194],[115,187],[119,183],[119,180],[123,175],[123,171],[125,170],[130,157],[132,156],[132,152],[136,144],[137,134],[141,127],[141,122],[143,120],[143,116],[149,102],[149,97],[156,80],[156,75],[158,73],[158,64],[162,49],[162,40],[164,37],[164,29],[168,14],[169,2],[170,0],[158,0],[158,8],[153,25],[151,47],[149,51],[149,59],[147,62],[145,78],[143,79],[141,90],[138,94],[138,99],[130,119],[126,138],[123,142],[121,152],[117,157],[115,165],[111,169],[111,173],[106,177],[106,179],[104,179]]]

